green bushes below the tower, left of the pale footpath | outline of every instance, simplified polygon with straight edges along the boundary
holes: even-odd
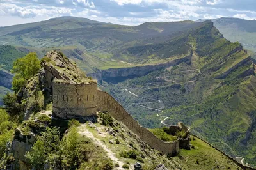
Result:
[[[104,152],[77,133],[77,125],[77,121],[70,121],[68,134],[62,139],[58,128],[47,127],[33,150],[26,154],[31,166],[42,169],[47,162],[50,168],[58,169],[113,169],[112,161],[104,158]]]

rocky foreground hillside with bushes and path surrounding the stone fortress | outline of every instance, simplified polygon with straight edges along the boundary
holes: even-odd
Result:
[[[29,79],[19,93],[26,107],[26,114],[21,112],[19,116],[28,119],[22,120],[15,130],[14,122],[4,127],[9,131],[12,128],[14,133],[10,143],[1,143],[1,169],[134,169],[134,165],[147,170],[155,170],[157,166],[165,169],[246,169],[194,136],[191,137],[191,150],[182,149],[176,156],[163,155],[150,148],[140,135],[134,134],[121,121],[112,118],[113,110],[109,113],[99,111],[95,119],[77,116],[81,123],[54,118],[50,97],[54,78],[70,84],[92,80],[60,52],[47,53],[41,66],[40,73]],[[42,110],[44,108],[49,110]]]

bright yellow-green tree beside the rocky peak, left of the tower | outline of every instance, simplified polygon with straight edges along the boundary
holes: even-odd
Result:
[[[35,52],[31,52],[23,58],[13,62],[12,73],[15,73],[12,82],[12,89],[17,93],[20,88],[26,85],[26,81],[38,73],[40,60]]]

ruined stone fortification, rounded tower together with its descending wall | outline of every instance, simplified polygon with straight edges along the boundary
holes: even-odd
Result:
[[[179,139],[164,142],[157,138],[147,128],[142,127],[134,120],[122,105],[116,102],[115,98],[104,91],[98,90],[97,82],[70,84],[65,81],[54,81],[52,91],[52,116],[68,119],[77,116],[95,116],[97,111],[109,112],[109,115],[124,123],[129,130],[152,148],[164,154],[175,154],[179,151]],[[179,128],[182,128],[181,125]],[[183,145],[184,142],[182,142]]]

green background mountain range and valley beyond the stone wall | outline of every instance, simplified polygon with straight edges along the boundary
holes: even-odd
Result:
[[[8,44],[0,59],[10,70],[19,58],[11,54],[42,58],[61,50],[87,73],[97,72],[100,88],[141,125],[182,121],[228,155],[256,164],[255,60],[243,48],[254,50],[254,24],[221,18],[121,26],[60,17],[0,27]]]

